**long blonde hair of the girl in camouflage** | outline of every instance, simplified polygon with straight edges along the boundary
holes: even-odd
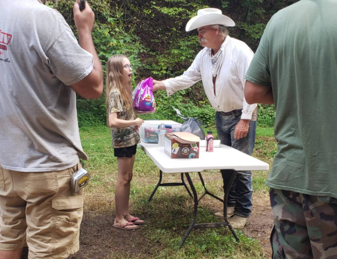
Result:
[[[121,93],[127,112],[135,115],[133,110],[131,81],[125,82],[123,75],[124,58],[127,57],[123,55],[114,55],[110,57],[106,63],[105,104],[107,117],[109,116],[109,98],[114,89],[118,89]],[[107,123],[109,123],[108,119]]]

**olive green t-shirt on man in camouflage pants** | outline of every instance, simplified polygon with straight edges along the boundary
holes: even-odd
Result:
[[[302,0],[269,21],[246,79],[272,87],[278,144],[266,185],[337,198],[337,1]]]

